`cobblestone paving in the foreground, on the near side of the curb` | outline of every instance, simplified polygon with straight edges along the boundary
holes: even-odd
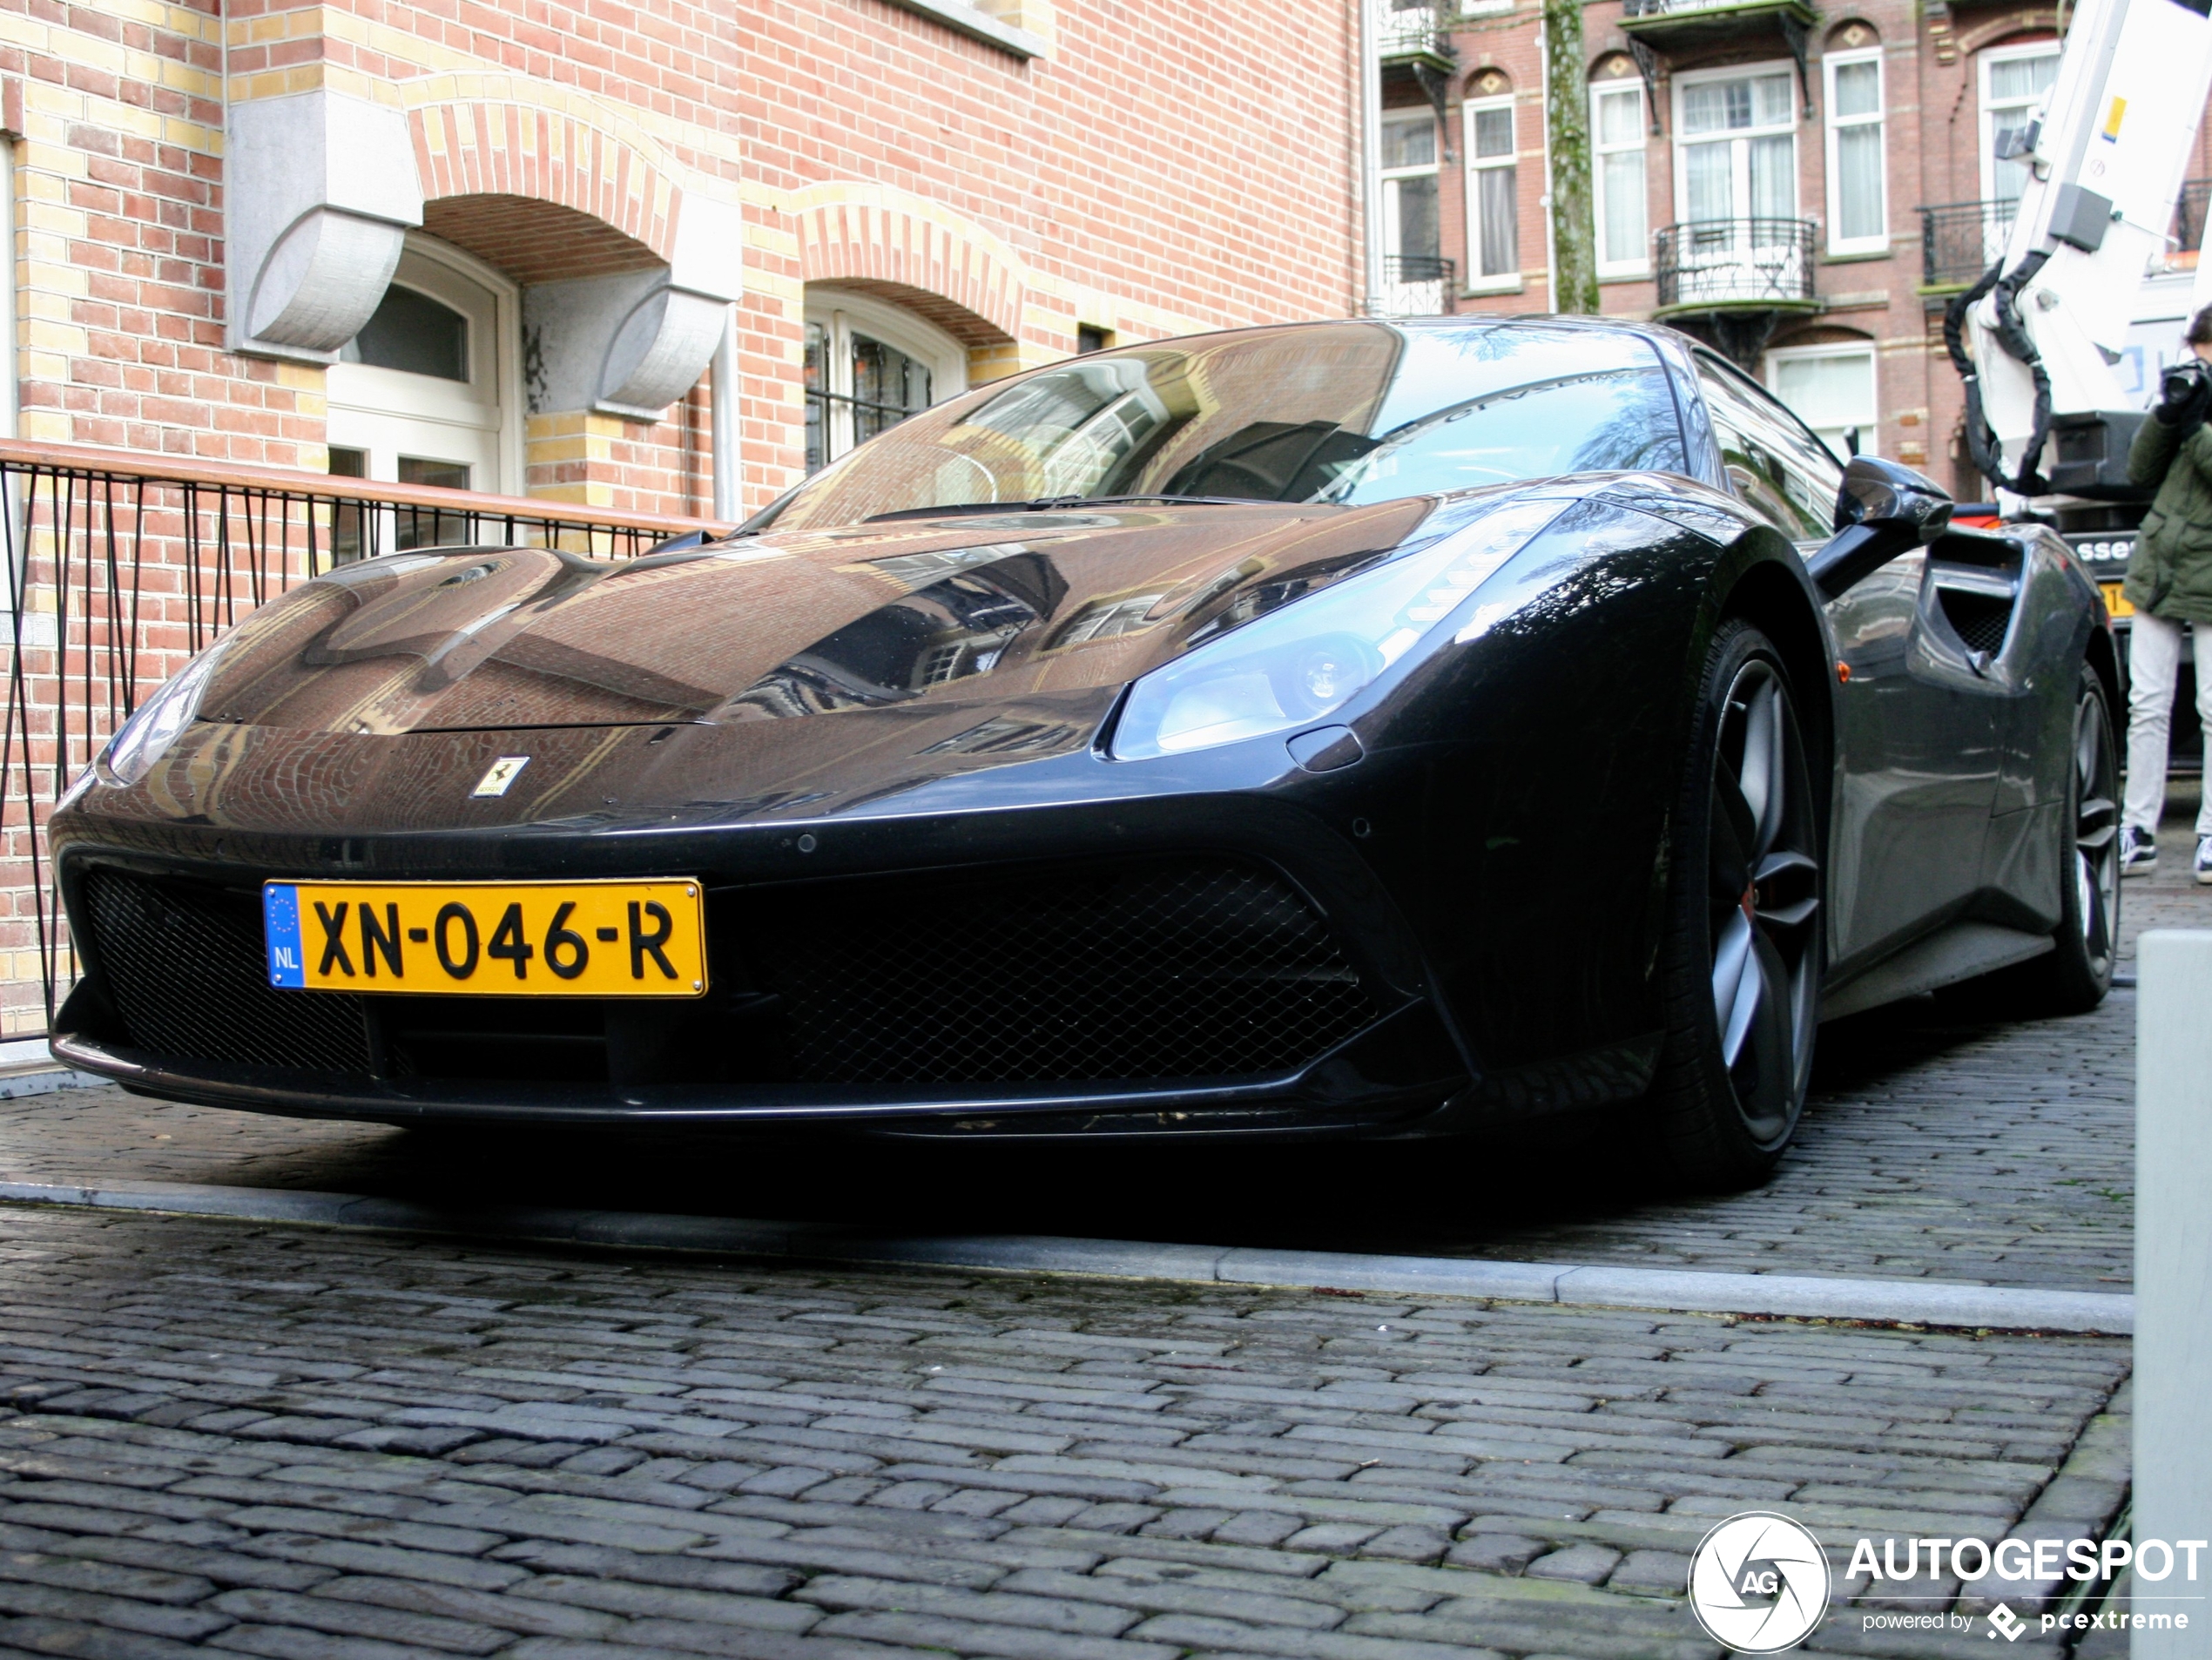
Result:
[[[1663,1660],[1721,1516],[2070,1534],[2126,1445],[2053,1481],[2108,1339],[0,1226],[44,1653]]]

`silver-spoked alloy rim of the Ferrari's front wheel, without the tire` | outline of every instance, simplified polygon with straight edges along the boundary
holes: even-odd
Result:
[[[1745,662],[1712,766],[1712,1014],[1752,1142],[1778,1147],[1812,1071],[1820,996],[1820,863],[1812,779],[1790,691]]]

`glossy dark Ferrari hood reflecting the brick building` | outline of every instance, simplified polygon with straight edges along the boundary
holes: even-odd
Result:
[[[374,735],[734,724],[1121,684],[1239,609],[1396,549],[1436,505],[1013,511],[624,564],[398,553],[257,611],[199,717]]]

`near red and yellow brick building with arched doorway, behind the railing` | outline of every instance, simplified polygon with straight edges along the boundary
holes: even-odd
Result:
[[[1354,310],[1354,40],[1329,0],[18,0],[15,434],[706,513],[719,361],[759,507],[1079,343]]]

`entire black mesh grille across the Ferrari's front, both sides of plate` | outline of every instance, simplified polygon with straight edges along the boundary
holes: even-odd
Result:
[[[82,892],[82,921],[135,1049],[369,1071],[367,998],[265,983],[254,892],[113,868],[86,872]],[[710,905],[721,996],[681,1011],[653,1073],[668,1082],[1248,1078],[1303,1067],[1376,1018],[1321,916],[1272,872],[1230,859],[872,876],[723,890]],[[524,1051],[544,1027],[538,1007],[392,1003],[378,1014],[389,1067],[403,1073],[608,1076],[566,1051],[553,1071],[533,1065],[542,1058]],[[440,1009],[460,1014],[462,1003],[465,1051],[451,1040],[425,1049],[414,1027],[429,1031]],[[602,1018],[613,1029],[637,1014],[630,1003],[568,1007],[557,1036],[571,1047],[571,1027],[597,1034]],[[484,1036],[491,1027],[498,1042]]]

